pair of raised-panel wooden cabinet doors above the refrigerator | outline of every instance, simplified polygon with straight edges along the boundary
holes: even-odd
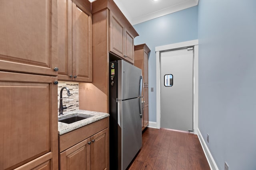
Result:
[[[134,37],[110,11],[110,51],[134,63]]]

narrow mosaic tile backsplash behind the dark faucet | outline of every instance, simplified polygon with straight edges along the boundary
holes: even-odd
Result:
[[[58,83],[58,109],[60,107],[60,90],[62,87],[67,87],[70,90],[70,94],[71,94],[71,96],[68,96],[66,89],[62,91],[63,106],[68,107],[73,105],[71,107],[68,107],[67,109],[64,109],[63,114],[65,114],[66,111],[78,110],[79,109],[79,83],[76,83],[76,82],[59,82]]]

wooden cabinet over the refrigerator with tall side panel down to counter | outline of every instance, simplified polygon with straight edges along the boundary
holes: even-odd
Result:
[[[79,102],[82,103],[79,108],[108,113],[110,58],[114,56],[116,59],[124,59],[133,63],[133,39],[138,36],[138,33],[113,0],[92,2],[92,30],[93,80],[92,83],[79,84],[79,92],[82,92],[82,95],[79,95]],[[120,51],[120,54],[114,52],[114,49]],[[123,53],[126,53],[128,57],[124,57]]]

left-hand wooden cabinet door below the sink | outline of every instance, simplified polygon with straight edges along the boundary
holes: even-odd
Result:
[[[60,153],[61,170],[90,170],[90,138]]]

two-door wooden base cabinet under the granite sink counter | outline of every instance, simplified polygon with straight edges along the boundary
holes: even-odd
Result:
[[[109,170],[108,123],[106,117],[60,135],[60,169]]]

